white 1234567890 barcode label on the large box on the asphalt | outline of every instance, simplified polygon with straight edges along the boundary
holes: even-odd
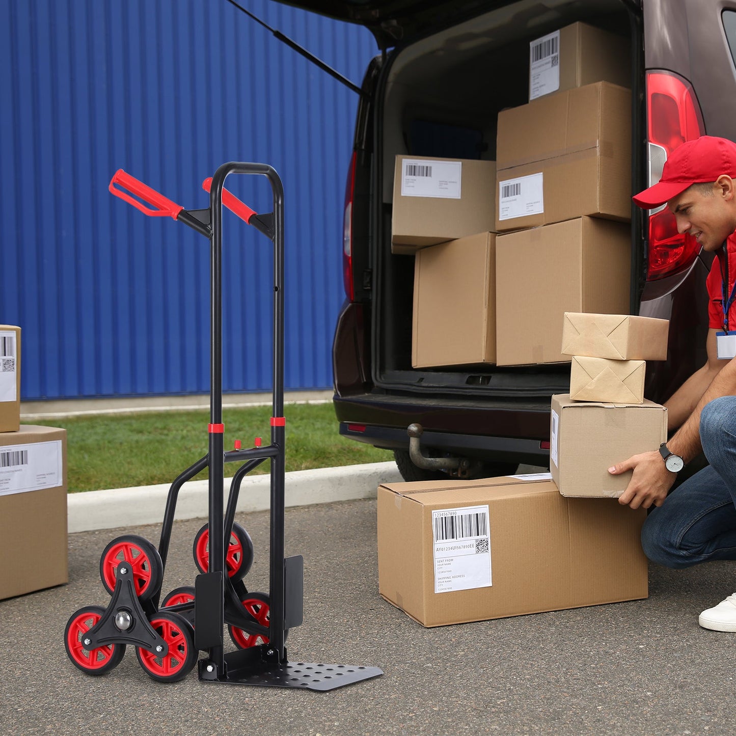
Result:
[[[488,506],[432,512],[434,592],[491,587]]]

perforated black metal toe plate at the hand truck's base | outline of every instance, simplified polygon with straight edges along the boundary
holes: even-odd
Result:
[[[334,690],[336,687],[360,682],[383,674],[378,667],[354,665],[324,665],[313,662],[286,662],[269,665],[257,672],[229,673],[220,682],[262,687],[301,687],[307,690]]]

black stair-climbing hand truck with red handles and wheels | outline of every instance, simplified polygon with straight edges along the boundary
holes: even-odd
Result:
[[[229,174],[269,180],[273,211],[258,215],[224,188]],[[203,682],[333,690],[383,674],[376,667],[289,662],[286,636],[303,618],[303,559],[284,557],[286,419],[283,416],[283,186],[275,169],[261,163],[224,163],[202,188],[210,206],[185,210],[158,191],[118,170],[110,192],[148,216],[170,216],[210,241],[210,423],[208,453],[183,471],[169,489],[158,549],[143,537],[113,539],[102,553],[100,577],[112,598],[107,607],[84,606],[71,615],[64,633],[66,652],[77,668],[102,675],[119,664],[127,645],[152,679],[175,682],[197,663]],[[274,374],[271,442],[224,450],[222,423],[222,205],[272,241]],[[243,578],[253,547],[235,523],[241,481],[263,461],[271,463],[269,593],[248,592]],[[242,462],[224,500],[224,463]],[[194,587],[181,587],[160,601],[177,495],[185,481],[208,468],[208,523],[194,539],[200,574]],[[227,539],[227,548],[225,540]],[[227,575],[225,574],[227,573]],[[160,605],[159,605],[160,603]],[[227,623],[236,651],[224,651]]]

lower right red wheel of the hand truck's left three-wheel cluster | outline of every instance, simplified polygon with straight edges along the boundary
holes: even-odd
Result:
[[[191,624],[177,613],[159,611],[151,619],[151,626],[169,645],[169,651],[161,657],[153,651],[136,647],[138,663],[149,677],[158,682],[177,682],[185,678],[199,657]]]

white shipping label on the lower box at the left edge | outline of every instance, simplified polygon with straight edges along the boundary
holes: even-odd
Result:
[[[61,440],[0,447],[0,496],[63,483]]]

